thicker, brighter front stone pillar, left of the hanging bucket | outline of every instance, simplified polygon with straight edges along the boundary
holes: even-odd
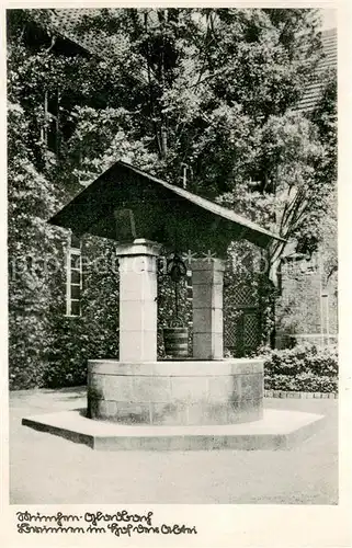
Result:
[[[120,362],[157,359],[157,258],[160,244],[118,243]]]

